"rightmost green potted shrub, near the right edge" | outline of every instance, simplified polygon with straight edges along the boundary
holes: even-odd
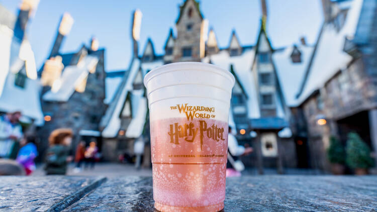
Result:
[[[370,149],[357,133],[348,133],[346,163],[350,168],[369,168],[373,166]]]

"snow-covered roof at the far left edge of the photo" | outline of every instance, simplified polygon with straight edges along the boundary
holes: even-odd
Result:
[[[39,81],[28,78],[33,74],[33,78],[36,77],[36,70],[32,70],[35,69],[34,53],[26,39],[22,46],[22,41],[14,37],[15,21],[13,13],[0,5],[0,111],[20,111],[23,120],[33,119],[40,126],[44,123],[39,97],[40,85]],[[28,77],[22,88],[15,85],[15,78],[16,73],[25,65],[25,60],[28,62],[28,70],[22,72],[27,73]]]

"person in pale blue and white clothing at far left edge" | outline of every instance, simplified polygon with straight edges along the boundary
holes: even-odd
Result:
[[[0,117],[0,158],[16,159],[23,137],[20,118],[19,111]]]

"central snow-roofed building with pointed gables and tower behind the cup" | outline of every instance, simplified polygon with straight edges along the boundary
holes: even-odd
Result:
[[[262,3],[265,4],[264,1]],[[148,39],[143,52],[139,54],[138,36],[135,36],[140,27],[135,23],[141,22],[135,22],[140,16],[138,13],[140,12],[135,11],[133,14],[131,28],[134,44],[132,62],[124,75],[120,76],[119,87],[101,121],[106,160],[117,160],[118,155],[124,153],[132,155],[134,142],[141,138],[146,144],[149,142],[146,135],[148,130],[145,130],[148,126],[148,116],[145,116],[147,109],[144,109],[145,88],[142,84],[139,87],[144,75],[151,69],[170,62],[202,61],[229,70],[236,78],[229,123],[241,145],[253,146],[257,150],[256,154],[243,157],[244,163],[258,166],[261,173],[262,167],[278,167],[280,173],[284,172],[282,167],[297,167],[295,135],[290,126],[290,108],[296,103],[291,100],[294,98],[292,93],[297,92],[292,92],[295,85],[286,82],[281,84],[280,76],[285,81],[289,80],[285,76],[286,72],[291,72],[290,68],[296,71],[291,75],[302,75],[302,67],[307,64],[313,49],[311,46],[300,44],[273,49],[266,33],[265,8],[256,45],[241,45],[233,31],[228,47],[220,48],[215,30],[208,32],[208,21],[204,19],[199,3],[187,0],[179,7],[175,22],[176,35],[172,29],[168,32],[165,53],[157,55],[153,42]],[[299,80],[295,83],[298,87]],[[138,116],[139,111],[145,115]],[[132,122],[138,123],[138,127],[134,128]]]

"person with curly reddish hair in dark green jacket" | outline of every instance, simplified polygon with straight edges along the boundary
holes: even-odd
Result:
[[[52,131],[48,141],[50,147],[46,153],[46,174],[66,174],[67,163],[72,161],[72,156],[68,156],[69,146],[72,143],[72,130],[56,129]]]

